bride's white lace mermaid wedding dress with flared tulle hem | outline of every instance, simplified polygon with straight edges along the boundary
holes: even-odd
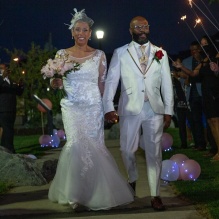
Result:
[[[66,54],[59,50],[57,54]],[[79,203],[92,210],[109,209],[134,200],[104,144],[101,93],[106,77],[106,58],[100,50],[86,58],[63,79],[67,97],[61,100],[67,142],[63,147],[49,199],[60,204]]]

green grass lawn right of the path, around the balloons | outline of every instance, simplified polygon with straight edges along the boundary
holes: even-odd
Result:
[[[163,160],[169,159],[174,154],[185,154],[201,166],[201,174],[196,181],[175,181],[171,184],[176,192],[192,201],[197,209],[207,218],[219,218],[219,162],[211,162],[209,157],[204,157],[206,152],[195,151],[193,148],[180,149],[178,129],[166,131],[173,136],[173,148],[163,153]]]

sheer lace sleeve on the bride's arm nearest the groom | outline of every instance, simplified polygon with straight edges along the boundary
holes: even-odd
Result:
[[[99,78],[98,78],[98,86],[100,89],[101,96],[103,96],[103,92],[104,92],[106,71],[107,71],[106,56],[105,56],[105,53],[102,52],[101,57],[100,57]]]

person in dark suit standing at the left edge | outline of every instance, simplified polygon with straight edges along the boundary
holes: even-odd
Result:
[[[14,83],[11,71],[6,64],[0,64],[0,127],[2,127],[1,146],[11,153],[14,149],[14,123],[16,119],[17,95],[24,91],[23,81]]]

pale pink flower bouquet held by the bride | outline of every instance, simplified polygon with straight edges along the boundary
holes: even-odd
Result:
[[[48,59],[47,64],[41,69],[43,78],[62,78],[66,77],[66,74],[71,71],[77,71],[80,69],[80,63],[70,60],[68,55],[56,55],[54,59]],[[65,92],[63,87],[59,87],[57,90],[59,97],[64,97]]]

